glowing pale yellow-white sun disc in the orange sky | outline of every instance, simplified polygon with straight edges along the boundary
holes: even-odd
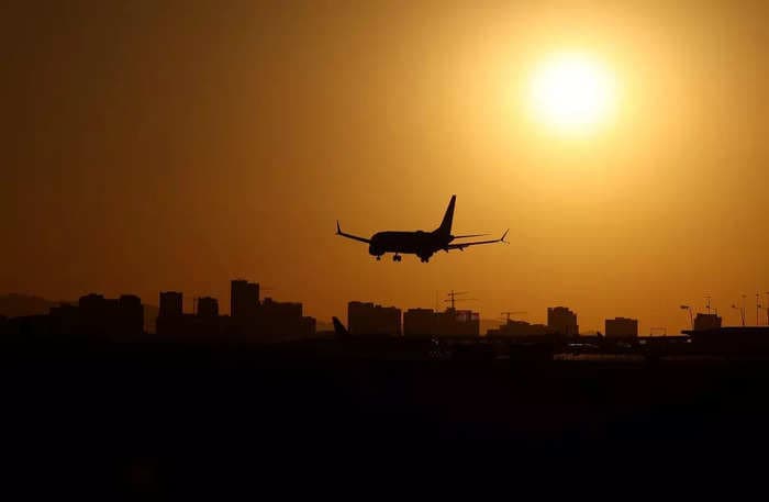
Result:
[[[592,134],[614,113],[614,76],[584,54],[554,55],[534,70],[527,102],[533,119],[569,135]]]

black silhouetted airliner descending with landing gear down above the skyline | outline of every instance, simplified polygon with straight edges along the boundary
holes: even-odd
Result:
[[[376,256],[377,260],[382,258],[386,253],[394,253],[392,256],[393,261],[401,261],[403,255],[416,255],[420,257],[423,264],[430,261],[431,256],[433,256],[438,250],[445,250],[448,253],[452,249],[465,250],[466,247],[478,246],[481,244],[494,244],[504,243],[510,244],[504,237],[508,236],[510,228],[504,231],[504,234],[500,238],[492,241],[472,241],[468,243],[452,243],[456,238],[468,238],[468,237],[481,237],[487,234],[470,234],[470,235],[452,235],[452,221],[454,220],[454,204],[456,203],[457,196],[452,196],[452,200],[448,202],[448,208],[446,208],[446,214],[443,216],[441,226],[435,228],[433,232],[378,232],[371,236],[371,238],[359,237],[353,234],[346,234],[342,232],[339,226],[339,221],[336,221],[336,235],[343,237],[352,238],[353,241],[358,241],[368,244],[369,255]]]

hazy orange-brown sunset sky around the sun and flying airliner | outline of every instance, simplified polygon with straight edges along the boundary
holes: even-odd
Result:
[[[14,5],[15,3],[15,5]],[[757,3],[759,5],[760,3]],[[350,299],[484,319],[566,304],[583,331],[769,291],[769,34],[748,2],[3,2],[0,292],[229,304],[243,277],[324,320]],[[604,62],[590,138],[523,96],[558,51]],[[481,246],[376,261],[348,232]],[[189,305],[189,302],[188,302]]]

